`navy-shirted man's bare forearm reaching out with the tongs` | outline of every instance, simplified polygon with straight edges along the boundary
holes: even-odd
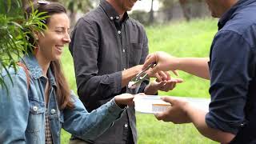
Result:
[[[177,70],[182,70],[200,78],[210,79],[209,58],[178,58]]]

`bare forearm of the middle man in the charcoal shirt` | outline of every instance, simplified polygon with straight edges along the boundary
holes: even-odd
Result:
[[[131,67],[130,69],[122,71],[122,87],[128,85],[128,82],[142,70],[142,65]]]

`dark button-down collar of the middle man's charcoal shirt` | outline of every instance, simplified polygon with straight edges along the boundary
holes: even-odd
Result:
[[[106,2],[106,0],[101,0],[99,6],[101,6],[102,9],[105,11],[107,17],[110,18],[110,21],[119,20],[119,14],[116,10],[114,10],[114,7],[111,6],[109,2]],[[129,16],[127,12],[125,12],[122,22],[126,21],[128,18]]]

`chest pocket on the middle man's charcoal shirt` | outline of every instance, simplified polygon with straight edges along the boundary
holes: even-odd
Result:
[[[142,43],[130,43],[129,65],[137,66],[142,58]]]

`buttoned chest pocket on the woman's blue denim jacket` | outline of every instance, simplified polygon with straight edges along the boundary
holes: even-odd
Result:
[[[30,100],[30,114],[28,118],[26,132],[35,133],[42,130],[45,118],[45,105],[44,102],[37,100]]]

